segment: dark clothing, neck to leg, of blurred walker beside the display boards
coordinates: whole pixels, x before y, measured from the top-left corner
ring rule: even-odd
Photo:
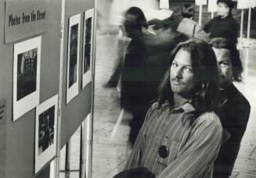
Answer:
[[[131,144],[135,143],[146,111],[150,108],[150,101],[153,100],[153,97],[146,92],[145,41],[147,37],[147,34],[140,31],[132,37],[124,57],[124,68],[121,74],[121,107],[133,114],[129,123]]]

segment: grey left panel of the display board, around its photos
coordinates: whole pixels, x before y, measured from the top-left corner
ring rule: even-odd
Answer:
[[[13,51],[14,44],[41,36],[41,67],[39,102],[43,102],[59,92],[59,37],[61,2],[58,0],[45,1],[46,31],[35,33],[5,44],[5,2],[0,2],[0,81],[1,98],[6,100],[6,117],[2,121],[5,133],[1,133],[1,168],[0,177],[35,177],[34,174],[34,132],[35,108],[13,121]],[[11,1],[13,2],[13,1]],[[14,3],[19,3],[18,1]],[[33,9],[33,7],[32,7]],[[32,10],[31,9],[31,10]],[[18,28],[18,27],[17,27]],[[19,29],[17,29],[19,30]],[[3,141],[5,140],[5,141]],[[2,149],[4,148],[4,150]],[[41,172],[41,174],[44,174]],[[39,173],[37,177],[43,177]]]

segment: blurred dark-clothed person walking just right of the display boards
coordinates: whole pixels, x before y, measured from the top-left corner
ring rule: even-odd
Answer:
[[[135,139],[144,121],[146,111],[150,107],[150,98],[146,94],[146,82],[144,66],[146,62],[146,38],[152,34],[148,33],[146,17],[138,7],[131,7],[125,13],[124,29],[130,41],[124,57],[124,69],[121,73],[121,107],[124,113],[131,114],[129,125],[130,144]]]

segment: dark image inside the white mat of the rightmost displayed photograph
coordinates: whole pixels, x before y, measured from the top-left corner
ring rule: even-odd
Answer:
[[[85,56],[84,74],[90,69],[91,63],[92,17],[85,20]]]

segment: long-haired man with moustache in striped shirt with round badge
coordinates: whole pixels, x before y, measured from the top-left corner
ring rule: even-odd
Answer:
[[[222,144],[217,97],[218,66],[211,47],[199,40],[180,43],[126,170],[115,177],[138,177],[144,167],[142,175],[146,168],[157,178],[211,178]]]

